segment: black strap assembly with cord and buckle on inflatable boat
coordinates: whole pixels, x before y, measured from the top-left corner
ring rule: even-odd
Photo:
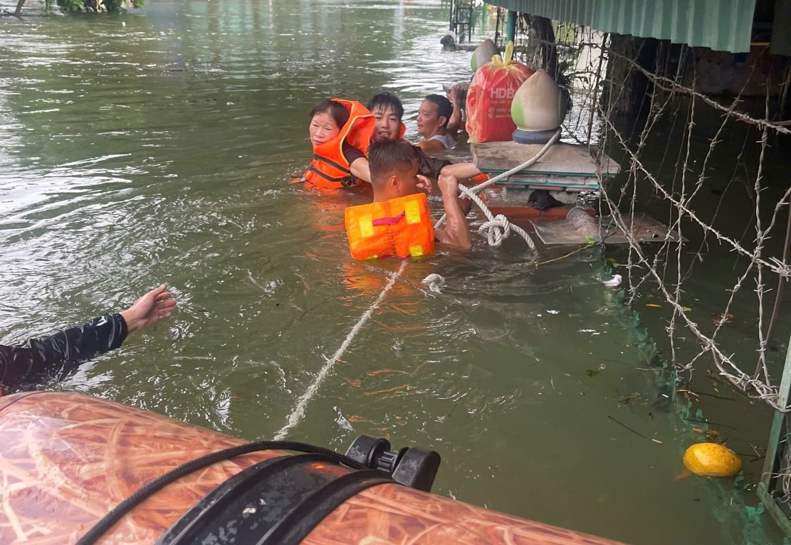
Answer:
[[[260,450],[290,450],[286,455],[244,468],[188,509],[157,545],[226,543],[298,545],[324,517],[347,499],[385,483],[430,491],[440,464],[434,451],[403,448],[361,435],[346,455],[305,443],[260,441],[191,460],[161,475],[119,503],[76,545],[93,545],[121,517],[163,487],[215,462]]]

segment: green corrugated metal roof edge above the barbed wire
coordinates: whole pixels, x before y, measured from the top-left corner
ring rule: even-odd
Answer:
[[[487,0],[601,32],[669,39],[716,51],[750,51],[755,0]]]

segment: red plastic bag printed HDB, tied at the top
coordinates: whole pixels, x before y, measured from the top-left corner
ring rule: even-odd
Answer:
[[[475,72],[467,91],[467,133],[470,142],[508,141],[517,129],[511,119],[511,102],[533,70],[512,61],[513,43],[505,47],[505,61],[494,55]]]

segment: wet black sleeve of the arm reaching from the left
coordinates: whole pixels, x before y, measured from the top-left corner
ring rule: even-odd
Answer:
[[[0,344],[0,387],[17,389],[41,378],[63,375],[85,359],[119,348],[127,338],[120,314],[104,314],[24,344]]]

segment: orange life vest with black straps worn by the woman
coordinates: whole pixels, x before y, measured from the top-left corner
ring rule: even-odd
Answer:
[[[358,186],[360,180],[351,175],[349,163],[343,156],[343,142],[349,142],[367,156],[368,146],[373,139],[375,121],[368,108],[356,100],[332,100],[346,108],[349,112],[349,120],[341,127],[338,136],[313,147],[313,160],[299,181],[310,182],[316,187],[327,189]]]

